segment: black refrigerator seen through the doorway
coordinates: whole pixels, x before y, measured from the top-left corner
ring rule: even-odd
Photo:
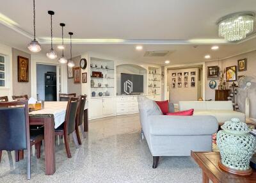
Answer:
[[[44,74],[45,101],[57,101],[56,72]]]

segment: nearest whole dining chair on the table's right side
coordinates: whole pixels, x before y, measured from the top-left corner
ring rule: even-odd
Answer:
[[[76,146],[78,146],[77,136],[76,136],[76,114],[79,106],[79,98],[70,97],[68,99],[67,110],[65,115],[65,122],[63,122],[60,127],[55,129],[55,136],[64,136],[64,143],[67,152],[67,157],[71,158],[68,135],[72,134]]]

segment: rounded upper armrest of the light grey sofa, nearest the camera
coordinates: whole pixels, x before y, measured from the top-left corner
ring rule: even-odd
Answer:
[[[149,129],[157,136],[211,135],[218,121],[214,116],[150,116]]]

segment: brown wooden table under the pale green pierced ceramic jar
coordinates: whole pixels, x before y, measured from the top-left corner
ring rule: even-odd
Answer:
[[[193,152],[191,157],[196,161],[202,169],[203,183],[208,183],[209,179],[213,183],[229,183],[229,182],[256,182],[256,171],[253,170],[252,175],[241,176],[228,173],[219,168],[220,152]]]

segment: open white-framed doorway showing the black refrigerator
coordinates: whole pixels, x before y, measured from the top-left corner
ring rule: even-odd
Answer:
[[[36,64],[36,97],[38,100],[57,101],[59,84],[60,67]]]

